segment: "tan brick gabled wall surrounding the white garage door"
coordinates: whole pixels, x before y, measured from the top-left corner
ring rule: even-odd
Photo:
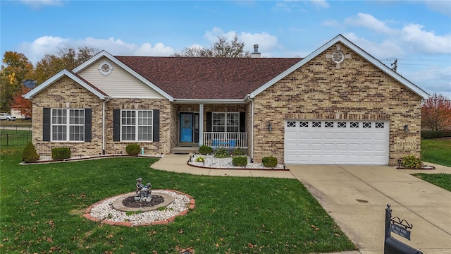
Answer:
[[[390,121],[389,164],[419,156],[421,97],[341,45],[340,68],[326,59],[330,47],[254,98],[254,159],[284,159],[285,119],[371,119]],[[268,123],[273,131],[267,130]],[[404,132],[407,124],[409,131]]]

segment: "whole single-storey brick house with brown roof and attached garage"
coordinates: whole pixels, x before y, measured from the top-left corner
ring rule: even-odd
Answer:
[[[257,54],[258,55],[258,54]],[[241,147],[255,162],[397,164],[419,155],[428,94],[338,35],[304,59],[100,52],[25,96],[39,155]]]

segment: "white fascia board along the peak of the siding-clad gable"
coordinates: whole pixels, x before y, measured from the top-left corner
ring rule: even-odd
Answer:
[[[133,76],[135,76],[135,78],[137,78],[138,80],[140,80],[142,83],[148,85],[149,87],[151,87],[153,90],[156,90],[156,92],[159,92],[159,94],[163,95],[163,97],[165,97],[166,99],[168,99],[170,102],[173,102],[173,97],[171,97],[171,95],[168,95],[166,92],[164,92],[163,90],[161,90],[159,87],[157,87],[156,85],[154,85],[152,82],[150,82],[149,80],[147,80],[146,78],[142,77],[142,75],[138,74],[136,71],[133,71],[130,67],[126,66],[123,62],[119,61],[118,59],[116,59],[116,57],[114,57],[113,55],[109,54],[108,52],[106,52],[105,50],[102,50],[101,52],[99,52],[99,54],[93,56],[91,59],[89,59],[88,61],[85,61],[85,63],[82,63],[80,66],[78,66],[77,68],[73,69],[74,73],[78,73],[79,71],[84,70],[85,68],[87,68],[87,66],[92,65],[92,63],[95,63],[96,61],[98,61],[99,59],[101,59],[102,57],[106,57],[107,59],[109,59],[110,61],[112,61],[113,63],[116,63],[118,66],[120,66],[121,68],[123,68],[125,71],[128,71],[128,73],[132,74]]]

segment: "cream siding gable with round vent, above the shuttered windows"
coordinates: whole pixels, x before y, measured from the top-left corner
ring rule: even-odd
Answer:
[[[99,59],[80,71],[78,75],[106,92],[111,98],[165,99],[159,92],[142,83],[112,61],[109,63],[113,66],[113,71],[109,75],[102,75],[98,68],[103,61],[109,61],[109,59]]]

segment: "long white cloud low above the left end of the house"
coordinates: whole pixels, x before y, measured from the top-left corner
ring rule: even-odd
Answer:
[[[99,50],[106,50],[113,55],[125,56],[169,56],[175,51],[172,47],[165,46],[163,43],[150,44],[144,42],[137,45],[134,43],[124,42],[121,39],[108,40],[87,37],[82,40],[73,40],[70,38],[61,38],[54,36],[39,37],[33,42],[24,42],[20,44],[19,52],[22,52],[32,63],[37,63],[41,60],[44,54],[56,54],[59,49],[70,47],[94,47]]]

